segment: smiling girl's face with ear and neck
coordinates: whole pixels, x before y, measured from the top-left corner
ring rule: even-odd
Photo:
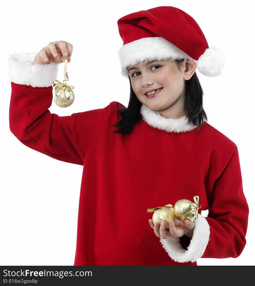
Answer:
[[[141,103],[151,110],[158,110],[166,118],[180,118],[186,115],[185,80],[191,78],[196,69],[196,64],[190,60],[178,69],[174,60],[143,61],[128,67],[132,88]],[[145,93],[158,90],[153,95]]]

